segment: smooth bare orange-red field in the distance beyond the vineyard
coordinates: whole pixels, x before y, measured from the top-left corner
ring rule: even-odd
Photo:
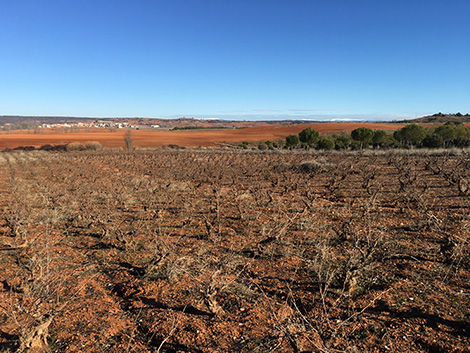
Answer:
[[[214,147],[217,143],[237,143],[242,141],[257,142],[266,140],[278,140],[289,134],[298,134],[307,127],[311,127],[320,133],[337,133],[352,131],[358,127],[366,126],[375,130],[396,130],[403,125],[376,124],[376,123],[321,123],[302,125],[279,125],[265,127],[249,127],[243,129],[228,130],[187,130],[187,131],[150,131],[133,130],[134,145],[142,148],[156,148],[166,145],[178,145],[183,147]],[[40,147],[46,144],[58,145],[69,142],[98,141],[107,147],[125,147],[125,130],[109,132],[107,130],[95,130],[93,132],[58,133],[45,131],[42,133],[1,133],[0,150],[16,148],[19,146]]]

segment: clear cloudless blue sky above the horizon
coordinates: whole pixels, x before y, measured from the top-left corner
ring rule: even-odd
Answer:
[[[0,0],[0,115],[470,112],[469,0]]]

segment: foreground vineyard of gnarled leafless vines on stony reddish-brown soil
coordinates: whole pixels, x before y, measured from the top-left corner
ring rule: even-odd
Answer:
[[[463,151],[0,153],[0,352],[468,352],[469,169]]]

